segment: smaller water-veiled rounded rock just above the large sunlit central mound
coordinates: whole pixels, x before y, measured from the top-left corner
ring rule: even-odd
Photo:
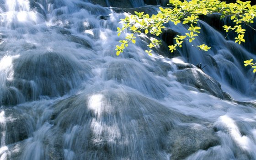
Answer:
[[[167,75],[166,70],[160,70],[160,72],[165,72],[165,75]],[[151,75],[148,74],[148,71],[143,66],[139,66],[132,61],[119,60],[107,64],[107,71],[104,77],[106,80],[115,80],[118,83],[132,87],[156,99],[165,97],[165,86],[152,79]],[[140,77],[139,81],[137,79],[138,77]],[[139,84],[144,85],[139,87]]]

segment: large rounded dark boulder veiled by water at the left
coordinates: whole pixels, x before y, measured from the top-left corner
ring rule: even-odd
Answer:
[[[10,104],[15,104],[19,98],[30,101],[39,96],[63,96],[85,79],[85,75],[80,74],[85,68],[70,55],[55,52],[24,54],[13,60],[13,79],[6,84],[16,92],[10,90],[11,93],[6,95],[9,96],[2,101],[14,101]],[[12,97],[17,100],[11,100]]]

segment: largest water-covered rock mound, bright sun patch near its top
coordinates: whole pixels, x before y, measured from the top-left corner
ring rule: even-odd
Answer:
[[[121,88],[93,92],[81,93],[53,106],[55,126],[64,131],[72,128],[74,137],[69,141],[69,146],[74,151],[75,159],[165,159],[166,155],[158,155],[160,150],[165,149],[164,146],[172,145],[173,151],[178,148],[171,140],[165,145],[166,136],[178,138],[177,135],[184,132],[183,128],[179,129],[176,125],[176,121],[196,121],[196,118],[187,117]],[[174,131],[171,131],[173,128]],[[192,130],[187,129],[186,133],[191,134],[189,132]],[[188,139],[197,141],[201,135],[199,133],[196,139],[192,136]],[[185,139],[185,133],[181,135]],[[180,144],[185,145],[185,142]],[[197,149],[210,145],[206,139],[202,143],[198,144]]]

